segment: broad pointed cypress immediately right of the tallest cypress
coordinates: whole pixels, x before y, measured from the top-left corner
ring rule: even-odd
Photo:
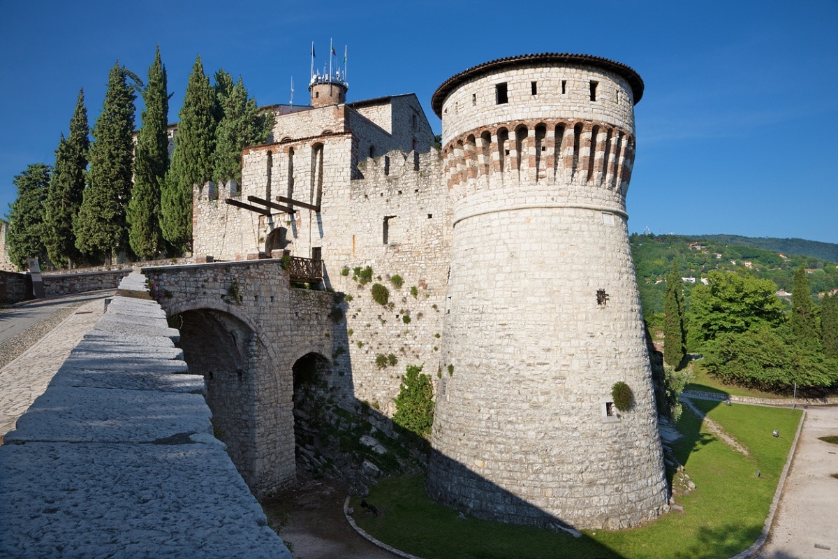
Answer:
[[[192,245],[192,187],[212,179],[215,152],[215,91],[195,60],[174,139],[172,165],[162,187],[160,226],[163,238],[180,250]]]

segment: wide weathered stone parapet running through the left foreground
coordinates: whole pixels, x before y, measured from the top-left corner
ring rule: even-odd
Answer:
[[[133,274],[0,446],[0,556],[290,559]]]

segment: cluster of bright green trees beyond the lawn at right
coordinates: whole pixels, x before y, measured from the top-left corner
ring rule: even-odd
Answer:
[[[711,375],[739,386],[838,386],[838,292],[826,293],[819,307],[803,266],[794,271],[790,308],[769,279],[731,271],[711,271],[706,279],[692,289],[687,308],[673,261],[662,320],[665,365],[683,368],[692,351],[703,354]]]

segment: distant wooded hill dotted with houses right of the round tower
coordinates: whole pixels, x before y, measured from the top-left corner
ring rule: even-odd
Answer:
[[[741,272],[770,279],[778,290],[791,292],[794,270],[809,272],[809,287],[818,295],[838,288],[838,245],[803,239],[768,239],[733,235],[638,235],[629,236],[634,269],[644,316],[664,310],[664,278],[678,265],[685,278],[687,305],[692,288],[713,270]],[[826,258],[825,256],[830,256]]]

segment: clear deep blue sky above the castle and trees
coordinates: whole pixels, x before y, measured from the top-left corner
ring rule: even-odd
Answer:
[[[91,127],[116,60],[160,45],[178,121],[189,72],[241,75],[260,105],[308,102],[312,41],[348,45],[349,101],[433,91],[517,54],[594,54],[637,70],[629,230],[838,242],[838,1],[537,3],[0,0],[0,215],[15,174],[54,162],[81,88]],[[137,103],[137,126],[141,104]]]

